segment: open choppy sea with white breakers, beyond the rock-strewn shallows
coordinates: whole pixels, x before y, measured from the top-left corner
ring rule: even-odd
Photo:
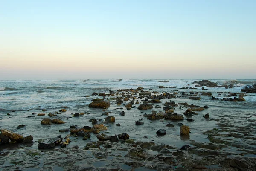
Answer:
[[[90,99],[85,96],[93,92],[109,92],[118,89],[136,89],[144,87],[145,90],[155,89],[160,85],[165,87],[195,87],[191,84],[201,80],[168,80],[169,83],[158,82],[161,80],[1,80],[0,81],[0,112],[58,109],[67,107],[85,107],[90,104]],[[245,85],[256,84],[256,80],[210,80],[219,85],[235,86],[233,89],[209,88],[210,92],[228,91],[240,92]],[[187,86],[187,84],[191,84]],[[168,89],[172,91],[174,89]],[[180,90],[183,91],[183,90]],[[188,90],[184,90],[188,91]],[[196,90],[194,90],[196,91]],[[206,90],[207,91],[207,90]],[[247,101],[255,102],[255,96],[248,97]]]

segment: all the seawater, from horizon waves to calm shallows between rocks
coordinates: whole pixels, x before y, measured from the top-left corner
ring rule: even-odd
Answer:
[[[256,95],[255,93],[246,94],[244,102],[233,101],[221,101],[212,100],[212,97],[201,96],[201,92],[211,92],[212,96],[223,98],[227,97],[229,93],[242,93],[241,88],[246,85],[256,84],[256,80],[210,80],[216,82],[219,85],[233,84],[235,87],[231,89],[225,88],[208,88],[208,90],[198,89],[180,89],[182,87],[195,87],[195,84],[191,84],[193,81],[201,80],[168,80],[168,83],[158,82],[161,80],[125,80],[125,79],[111,79],[111,80],[2,80],[0,81],[0,128],[12,130],[20,133],[23,136],[32,135],[35,143],[29,148],[37,148],[37,142],[39,139],[44,139],[45,142],[49,138],[54,138],[61,134],[65,137],[69,132],[60,133],[59,130],[70,128],[70,125],[78,125],[79,128],[83,126],[92,126],[89,119],[102,119],[98,121],[101,123],[104,121],[105,116],[101,116],[102,109],[88,108],[92,99],[102,98],[99,96],[91,96],[92,93],[109,93],[110,91],[119,89],[136,89],[137,87],[144,87],[144,91],[158,91],[159,94],[163,92],[177,92],[177,98],[173,99],[161,99],[162,103],[154,104],[163,106],[166,101],[175,101],[176,103],[194,104],[201,107],[208,105],[209,109],[202,112],[198,112],[198,115],[192,116],[193,122],[186,120],[182,121],[170,121],[170,120],[148,120],[142,115],[144,113],[151,114],[152,110],[157,112],[163,112],[163,108],[153,108],[151,110],[137,110],[137,107],[142,103],[142,99],[138,99],[140,104],[134,104],[135,108],[126,110],[123,106],[129,101],[124,101],[121,106],[117,106],[111,97],[105,97],[106,100],[110,100],[110,107],[108,112],[111,112],[109,116],[116,118],[115,123],[106,124],[108,130],[104,133],[107,135],[115,135],[119,133],[128,133],[130,139],[135,141],[154,141],[156,144],[164,143],[167,145],[180,148],[182,145],[190,144],[193,142],[206,142],[209,143],[207,135],[204,134],[207,130],[214,128],[219,129],[218,124],[230,125],[230,130],[225,130],[224,134],[236,134],[241,129],[248,130],[241,138],[235,138],[234,145],[230,145],[227,151],[240,153],[242,149],[250,149],[255,151],[255,145],[250,142],[250,139],[256,137]],[[190,84],[190,85],[188,85]],[[159,89],[159,86],[164,87],[176,87]],[[178,91],[177,91],[178,90]],[[200,101],[189,99],[189,92],[199,92],[201,97]],[[182,95],[185,93],[186,95]],[[89,96],[89,97],[86,97]],[[119,94],[118,96],[121,96]],[[231,96],[233,97],[233,96]],[[67,112],[58,114],[51,119],[57,118],[65,121],[65,124],[61,125],[41,125],[40,122],[44,118],[48,118],[48,113],[54,113],[59,111],[63,107],[67,106]],[[42,112],[43,109],[47,111]],[[183,105],[175,107],[175,113],[183,114],[186,108]],[[125,111],[125,116],[119,115],[121,111]],[[32,115],[35,113],[45,113],[45,116]],[[71,113],[83,112],[87,113],[80,117],[71,117]],[[7,115],[10,113],[10,115]],[[203,116],[209,113],[210,118],[205,119]],[[28,116],[32,116],[28,118]],[[145,122],[144,125],[137,126],[135,121],[142,119]],[[175,127],[166,127],[165,125],[171,122]],[[188,125],[191,128],[189,137],[181,137],[179,134],[180,128],[177,124],[181,122]],[[120,123],[118,127],[115,124]],[[18,125],[26,125],[24,128],[17,128]],[[156,135],[158,129],[165,129],[167,134],[159,137]],[[240,131],[242,132],[242,130]],[[249,132],[249,133],[248,133]],[[145,138],[147,136],[148,138]],[[219,137],[221,138],[221,137]],[[82,140],[82,137],[71,137],[71,146],[79,145],[79,148],[83,148],[87,142],[97,141],[96,135],[92,134],[92,137],[86,141]],[[240,145],[240,148],[237,146]],[[0,149],[6,148],[1,145]],[[250,155],[254,155],[250,152]]]

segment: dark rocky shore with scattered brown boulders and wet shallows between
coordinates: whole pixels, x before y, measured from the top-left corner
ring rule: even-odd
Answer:
[[[215,113],[209,105],[246,105],[256,85],[230,93],[231,84],[202,80],[192,82],[194,88],[164,86],[168,82],[148,90],[94,92],[86,96],[85,112],[28,111],[26,118],[40,119],[36,125],[51,138],[19,133],[29,125],[1,128],[0,170],[256,171],[256,113]],[[220,91],[214,94],[212,87]],[[211,122],[214,128],[208,129]],[[60,135],[52,137],[56,132]]]

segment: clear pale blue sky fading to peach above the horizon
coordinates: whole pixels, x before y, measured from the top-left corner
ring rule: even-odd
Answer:
[[[256,79],[255,0],[0,0],[0,79]]]

